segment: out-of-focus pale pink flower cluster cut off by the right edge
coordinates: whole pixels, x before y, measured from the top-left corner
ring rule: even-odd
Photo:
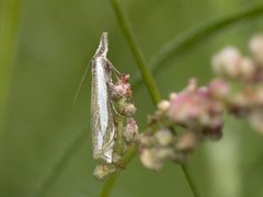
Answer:
[[[228,112],[248,118],[263,134],[263,36],[254,36],[249,48],[251,57],[235,47],[222,49],[213,58],[213,68],[230,89],[225,97]]]

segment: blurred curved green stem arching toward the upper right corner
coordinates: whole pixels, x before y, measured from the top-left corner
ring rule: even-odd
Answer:
[[[262,2],[236,9],[226,15],[198,24],[161,47],[157,55],[155,55],[150,60],[150,69],[152,73],[157,74],[161,68],[163,69],[163,67],[167,66],[168,61],[176,58],[185,51],[188,51],[195,45],[202,43],[204,39],[207,39],[208,36],[211,36],[230,25],[237,24],[238,22],[260,15],[263,15]],[[134,79],[134,88],[141,84],[142,80],[139,74],[137,74]]]

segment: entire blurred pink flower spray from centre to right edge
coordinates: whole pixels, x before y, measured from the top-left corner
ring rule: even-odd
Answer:
[[[222,137],[222,115],[244,117],[263,134],[263,36],[254,36],[251,57],[226,47],[213,57],[217,77],[198,88],[195,79],[159,103],[138,140],[142,164],[160,170],[164,159],[185,162],[196,144]]]

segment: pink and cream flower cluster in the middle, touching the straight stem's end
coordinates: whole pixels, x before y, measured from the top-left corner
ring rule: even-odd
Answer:
[[[198,88],[192,79],[182,92],[159,103],[149,118],[156,127],[139,139],[145,166],[159,170],[167,158],[184,162],[199,141],[221,138],[224,105],[214,99],[213,85]],[[183,131],[176,134],[180,129]]]

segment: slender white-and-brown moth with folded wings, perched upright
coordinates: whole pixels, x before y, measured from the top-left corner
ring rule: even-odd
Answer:
[[[111,106],[110,85],[113,66],[106,58],[107,45],[107,33],[104,32],[91,63],[91,118],[93,158],[112,163],[115,127]]]

